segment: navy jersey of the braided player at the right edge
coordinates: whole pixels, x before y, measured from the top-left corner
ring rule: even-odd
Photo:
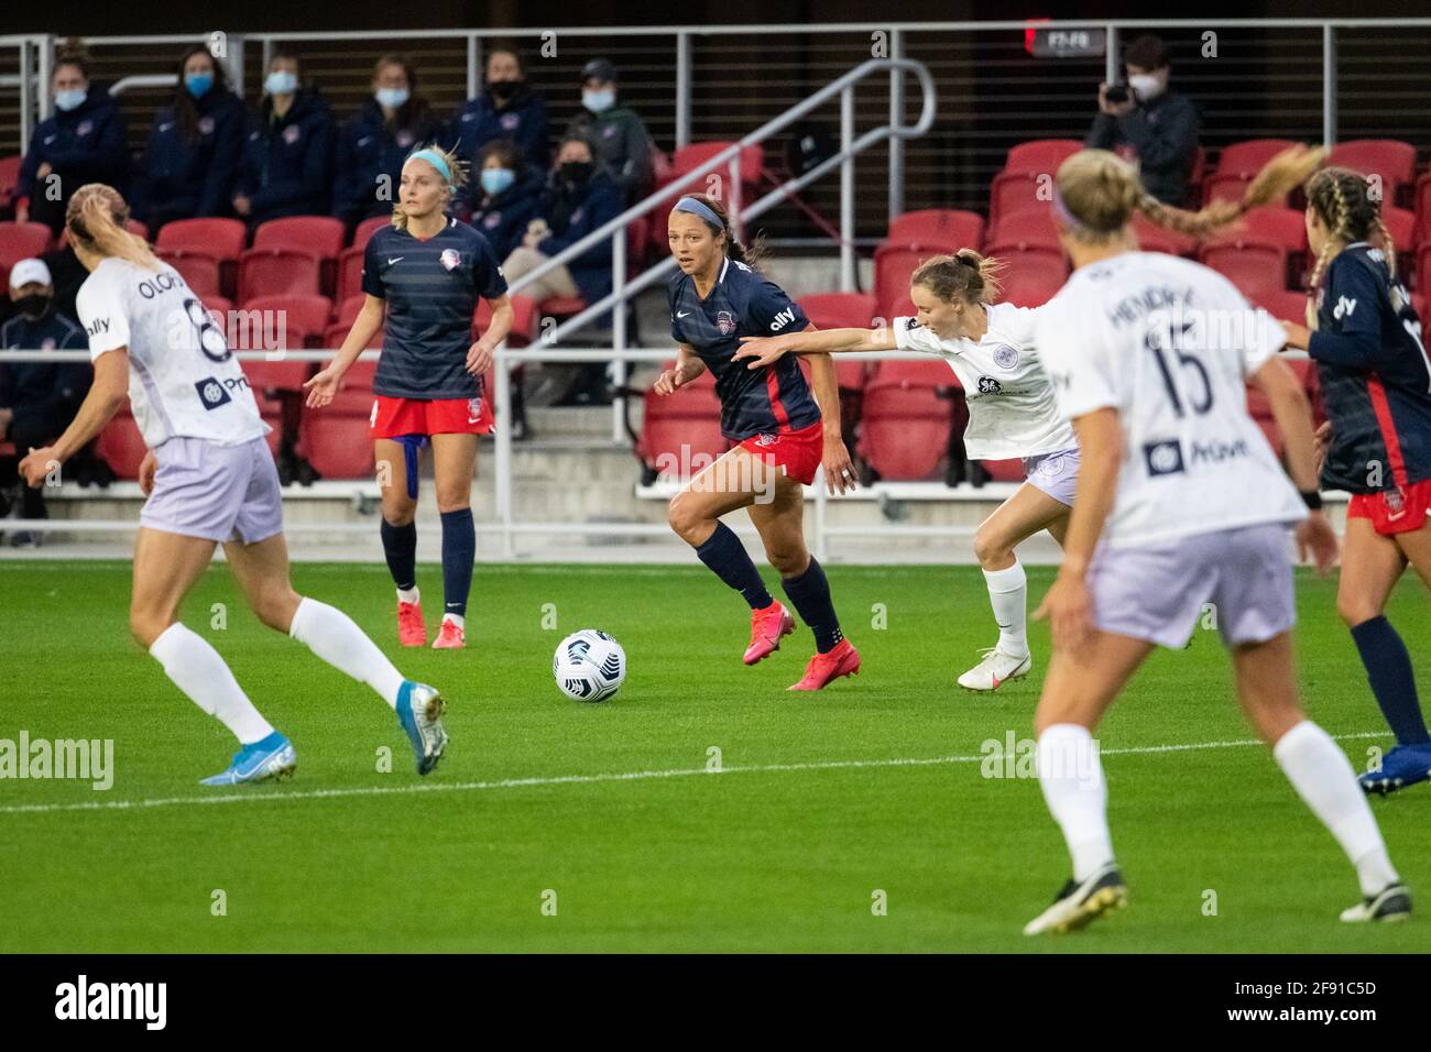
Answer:
[[[1348,245],[1317,292],[1317,362],[1332,441],[1322,487],[1354,494],[1431,478],[1431,361],[1385,256]]]

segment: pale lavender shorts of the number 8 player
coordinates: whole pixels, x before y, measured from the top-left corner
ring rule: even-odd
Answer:
[[[218,445],[170,438],[155,449],[155,488],[142,525],[209,541],[255,544],[283,532],[278,468],[268,441]]]

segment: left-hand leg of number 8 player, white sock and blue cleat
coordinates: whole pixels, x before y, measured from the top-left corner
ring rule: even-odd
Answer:
[[[260,781],[290,774],[293,747],[253,707],[207,640],[177,620],[179,604],[213,557],[215,542],[140,527],[129,630],[190,701],[239,740],[233,763],[206,784]]]

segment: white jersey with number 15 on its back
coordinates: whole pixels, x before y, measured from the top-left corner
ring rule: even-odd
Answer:
[[[1118,409],[1110,545],[1307,515],[1246,409],[1245,378],[1282,346],[1282,328],[1226,278],[1161,252],[1125,252],[1075,271],[1039,311],[1037,329],[1068,418]]]

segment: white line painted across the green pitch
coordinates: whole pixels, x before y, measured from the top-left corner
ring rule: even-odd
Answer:
[[[1369,730],[1357,734],[1334,734],[1347,741],[1352,739],[1388,737],[1388,731]],[[1002,744],[1002,741],[1000,741]],[[1193,741],[1176,746],[1129,746],[1126,749],[1100,749],[1099,756],[1148,756],[1155,753],[1189,753],[1206,749],[1246,749],[1261,746],[1256,739],[1236,741]],[[610,774],[557,774],[527,779],[498,779],[495,781],[414,781],[404,786],[359,786],[352,789],[313,789],[275,793],[216,793],[212,796],[169,796],[147,800],[96,800],[93,803],[33,803],[0,806],[0,814],[49,814],[52,812],[113,812],[143,810],[147,807],[187,807],[218,803],[290,803],[293,800],[332,800],[353,796],[399,796],[408,793],[475,793],[494,789],[528,789],[542,786],[590,786],[600,781],[647,781],[650,779],[680,779],[688,776],[714,774],[770,774],[780,771],[811,770],[854,770],[866,767],[937,767],[954,763],[983,763],[987,756],[930,756],[889,760],[811,760],[809,763],[767,763],[748,767],[723,767],[718,771],[705,767],[677,767],[673,770],[638,770]]]

